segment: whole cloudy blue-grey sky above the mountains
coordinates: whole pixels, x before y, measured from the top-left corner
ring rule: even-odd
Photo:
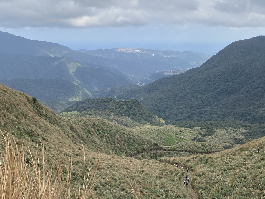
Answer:
[[[264,0],[0,0],[0,30],[78,49],[215,55],[265,35]]]

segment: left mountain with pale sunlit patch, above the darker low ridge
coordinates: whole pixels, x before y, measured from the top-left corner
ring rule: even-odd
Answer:
[[[92,92],[93,90],[130,84],[121,72],[68,57],[40,57],[0,52],[0,78],[66,79]]]

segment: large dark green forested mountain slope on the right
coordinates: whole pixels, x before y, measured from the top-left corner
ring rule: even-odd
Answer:
[[[238,119],[265,121],[265,36],[236,41],[201,67],[157,80],[135,91],[151,112],[167,121]],[[117,98],[132,97],[130,92]]]

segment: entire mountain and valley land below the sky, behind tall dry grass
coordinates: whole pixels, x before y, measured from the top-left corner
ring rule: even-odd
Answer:
[[[59,171],[68,193],[83,190],[94,175],[95,184],[88,183],[94,199],[265,197],[265,36],[233,42],[212,57],[73,51],[6,32],[0,40],[1,164],[21,147],[25,173],[37,175],[41,162],[39,179]],[[168,70],[180,73],[162,77]],[[135,85],[147,74],[157,79]]]

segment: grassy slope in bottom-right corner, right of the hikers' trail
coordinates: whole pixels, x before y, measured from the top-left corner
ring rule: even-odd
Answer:
[[[264,198],[265,137],[216,154],[164,158],[189,167],[199,198]]]

